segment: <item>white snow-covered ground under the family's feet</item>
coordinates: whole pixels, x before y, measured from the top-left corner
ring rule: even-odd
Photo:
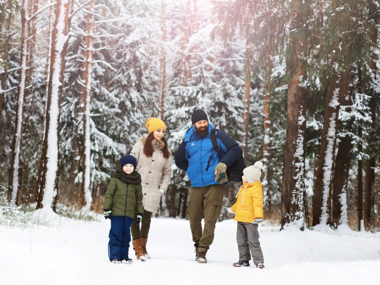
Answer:
[[[348,228],[260,229],[266,268],[235,268],[236,222],[217,223],[207,264],[194,261],[187,220],[152,219],[150,260],[111,264],[109,220],[59,218],[51,226],[0,226],[0,284],[379,284],[380,233]]]

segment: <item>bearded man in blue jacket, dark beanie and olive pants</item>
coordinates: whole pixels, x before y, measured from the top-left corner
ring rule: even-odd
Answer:
[[[221,130],[215,132],[220,152],[214,149],[210,136],[214,127],[208,123],[204,111],[197,109],[193,112],[192,124],[174,161],[179,169],[187,171],[191,181],[187,215],[195,242],[195,259],[198,263],[206,263],[206,252],[214,240],[215,224],[222,211],[228,180],[226,169],[239,157],[241,149]]]

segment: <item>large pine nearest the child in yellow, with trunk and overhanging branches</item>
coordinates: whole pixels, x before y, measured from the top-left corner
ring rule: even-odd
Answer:
[[[219,3],[219,25],[215,32],[224,41],[239,28],[245,38],[254,44],[246,63],[258,70],[271,64],[269,53],[284,55],[287,63],[285,80],[288,85],[287,135],[285,141],[282,177],[282,228],[296,224],[301,230],[305,224],[305,131],[306,131],[306,54],[311,27],[313,5],[310,1],[236,1]],[[288,13],[291,11],[291,13]],[[310,21],[309,21],[310,20]],[[249,33],[252,27],[252,33]],[[271,35],[275,37],[271,38]],[[286,48],[284,48],[286,44]],[[256,72],[257,73],[257,72]],[[255,73],[253,73],[255,75]],[[294,143],[296,142],[296,143]]]

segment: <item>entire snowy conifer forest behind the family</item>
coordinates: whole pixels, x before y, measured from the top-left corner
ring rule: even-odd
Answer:
[[[263,161],[265,219],[378,231],[378,19],[366,0],[0,0],[2,212],[101,211],[145,119],[174,156],[199,108]],[[157,216],[185,218],[172,170]]]

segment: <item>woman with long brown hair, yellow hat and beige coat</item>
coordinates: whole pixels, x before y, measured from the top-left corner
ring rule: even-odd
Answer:
[[[135,213],[131,225],[132,244],[138,260],[150,258],[146,243],[152,214],[157,213],[161,195],[166,192],[171,177],[171,152],[164,138],[166,125],[158,118],[145,121],[148,134],[133,146],[131,155],[136,157],[136,171],[141,175],[144,213]],[[141,229],[137,215],[142,214]]]

